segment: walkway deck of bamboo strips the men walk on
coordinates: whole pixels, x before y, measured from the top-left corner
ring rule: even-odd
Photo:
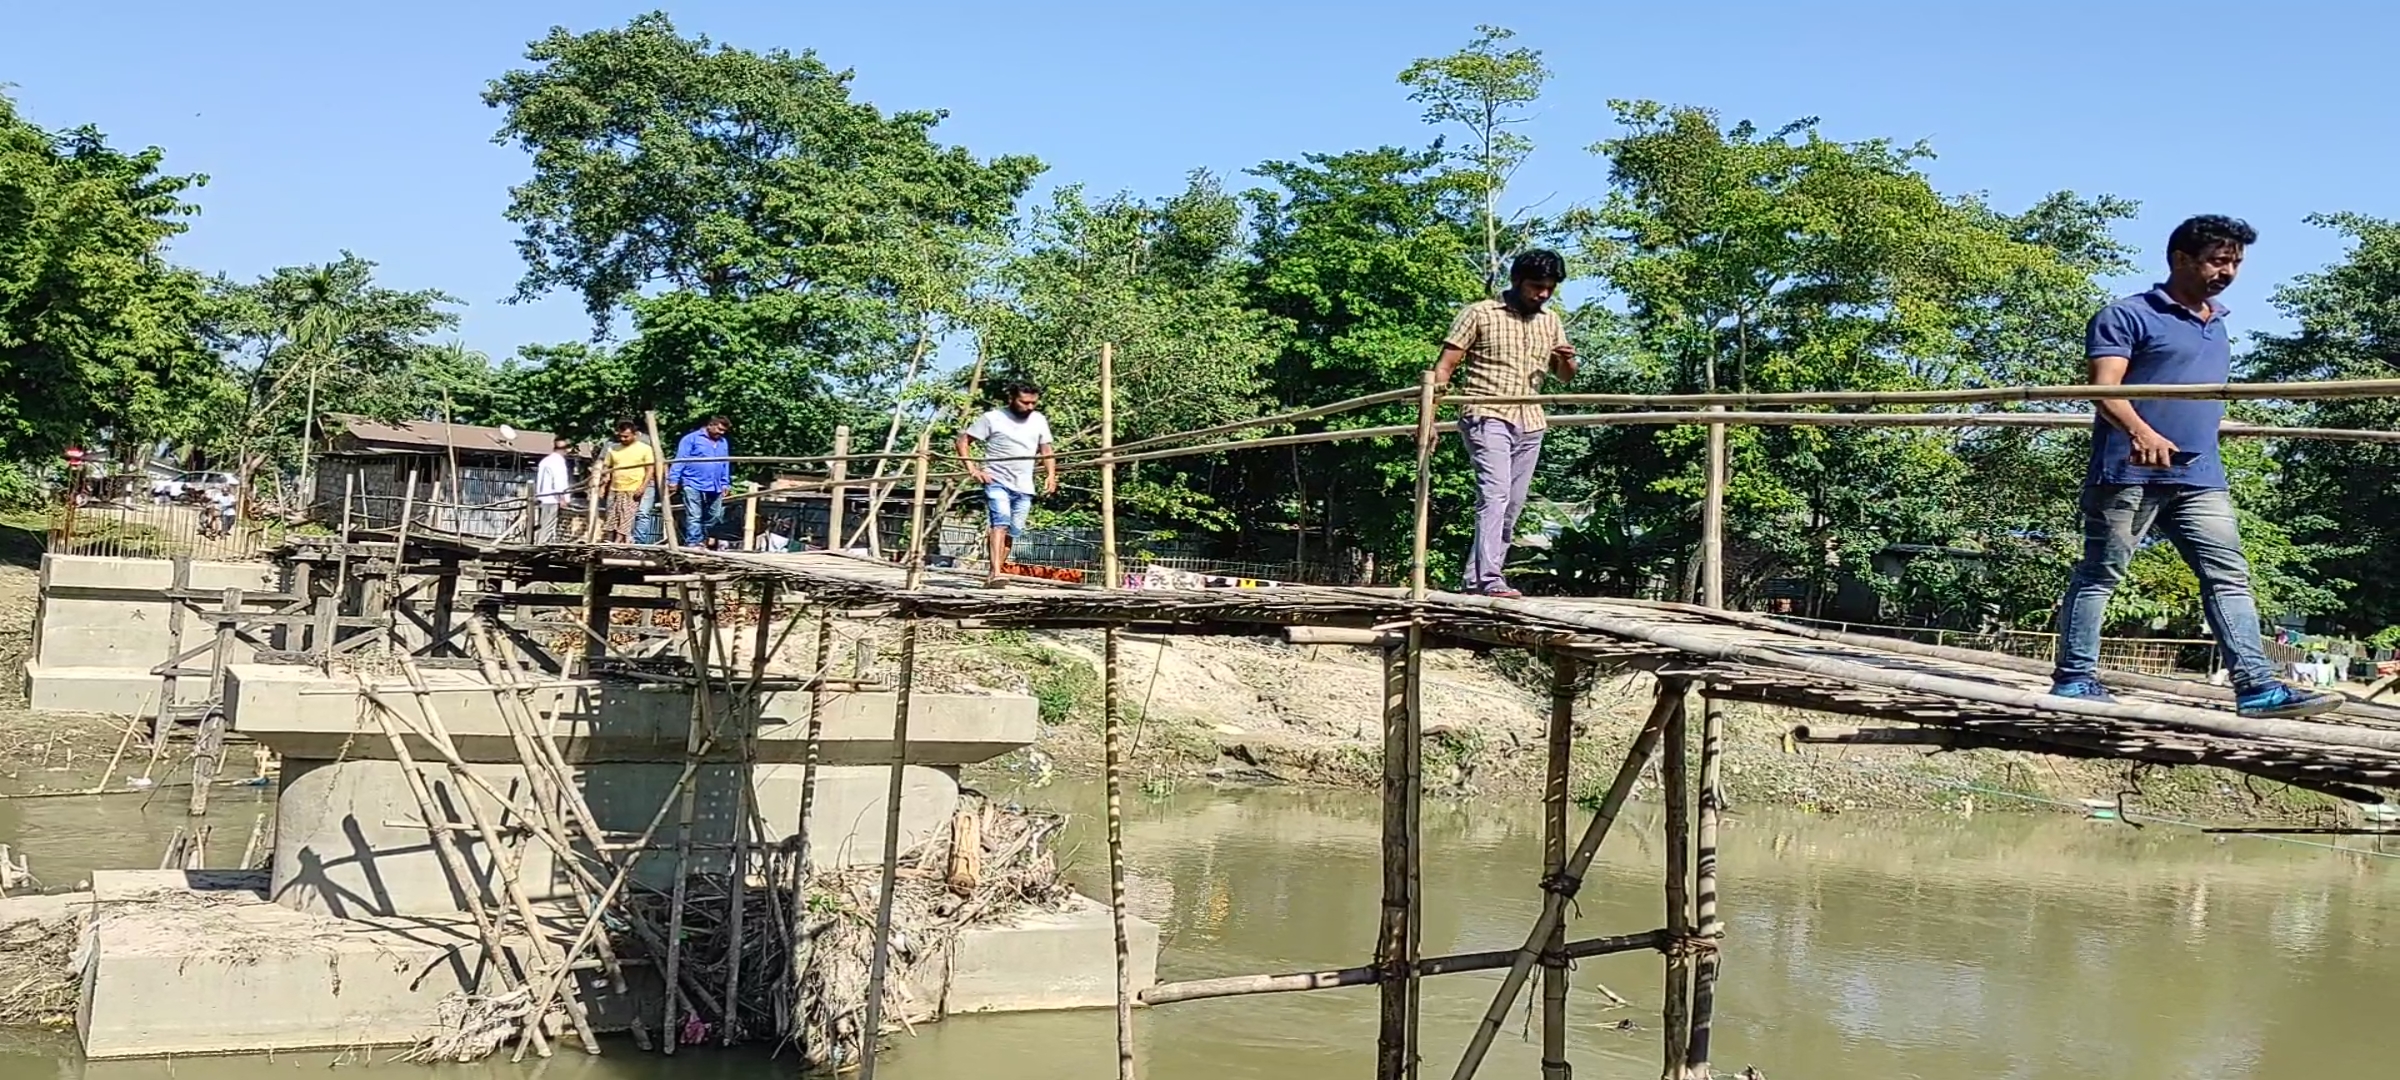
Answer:
[[[1397,588],[1106,590],[929,569],[907,571],[833,552],[701,552],[634,545],[518,550],[552,564],[600,562],[629,574],[708,574],[778,581],[809,602],[888,607],[977,626],[1130,626],[1174,634],[1277,634],[1282,626],[1373,629],[1423,619],[1452,643],[1546,646],[1622,667],[1697,679],[1733,701],[1925,725],[1951,746],[1999,746],[2086,758],[2222,766],[2345,799],[2400,787],[2400,710],[2350,703],[2314,720],[2249,720],[2230,691],[2182,679],[2112,674],[2114,703],[2054,698],[2038,660],[1826,634],[1762,614],[1613,598],[1433,593],[1411,605]]]

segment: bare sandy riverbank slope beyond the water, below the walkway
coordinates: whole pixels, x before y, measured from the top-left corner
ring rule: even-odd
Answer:
[[[1102,761],[1099,631],[960,631],[919,646],[926,689],[1006,689],[1042,701],[1042,737],[1013,770],[1094,775]],[[1121,636],[1128,787],[1164,797],[1188,785],[1270,782],[1373,787],[1382,766],[1380,660],[1351,646],[1272,638]],[[1445,799],[1531,799],[1541,790],[1548,670],[1526,653],[1428,653],[1426,790]],[[1598,792],[1649,710],[1649,677],[1601,672],[1577,708],[1572,785]],[[1862,809],[2062,809],[2086,799],[2203,821],[2333,823],[2347,804],[2215,768],[2141,768],[2014,751],[1800,746],[1814,713],[1726,710],[1730,802],[1817,814]],[[1637,797],[1649,787],[1644,782]]]

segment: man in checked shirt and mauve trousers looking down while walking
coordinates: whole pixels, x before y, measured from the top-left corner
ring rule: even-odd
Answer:
[[[1541,377],[1574,379],[1574,346],[1558,312],[1543,305],[1567,278],[1567,259],[1531,250],[1510,264],[1510,288],[1498,300],[1466,305],[1442,338],[1442,358],[1433,362],[1433,384],[1466,360],[1466,394],[1478,398],[1541,394]],[[1459,432],[1466,456],[1476,463],[1476,542],[1466,550],[1466,590],[1481,595],[1522,595],[1507,588],[1500,569],[1517,538],[1534,466],[1541,463],[1541,434],[1548,420],[1541,406],[1466,406]]]

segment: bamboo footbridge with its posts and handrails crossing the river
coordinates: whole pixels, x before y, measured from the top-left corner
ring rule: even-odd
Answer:
[[[2232,694],[2203,682],[2107,672],[2117,701],[2057,698],[2047,694],[2050,665],[1961,648],[1920,646],[1894,638],[1834,634],[1786,624],[1764,614],[1723,610],[1723,492],[1728,425],[1841,425],[1872,427],[2083,427],[2088,413],[2057,410],[1958,410],[1925,413],[1927,406],[2045,403],[2090,398],[2366,398],[2400,396],[2393,382],[2318,382],[2318,384],[2222,384],[2222,386],[2014,386],[1975,391],[1915,394],[1692,394],[1692,396],[1529,396],[1529,398],[1438,398],[1430,377],[1406,391],[1373,394],[1334,406],[1284,413],[1248,422],[1219,425],[1176,437],[1114,444],[1114,350],[1102,350],[1102,422],[1094,449],[1061,451],[1063,468],[1099,473],[1102,578],[1092,586],[1006,578],[989,583],[984,574],[960,574],[931,566],[926,518],[938,523],[943,509],[962,487],[955,466],[943,466],[931,451],[931,425],[917,437],[914,451],[850,454],[847,430],[835,434],[835,454],[809,458],[823,468],[830,523],[828,550],[806,552],[720,552],[667,545],[598,542],[598,521],[574,542],[499,542],[478,545],[480,559],[511,562],[550,581],[583,578],[583,619],[588,658],[598,660],[607,641],[607,607],[617,586],[658,586],[677,590],[686,612],[686,638],[703,653],[691,665],[701,684],[720,684],[727,696],[742,682],[734,658],[706,660],[713,634],[694,631],[694,622],[713,619],[720,588],[754,590],[758,602],[758,653],[749,679],[758,684],[768,653],[768,622],[778,610],[799,605],[818,619],[818,674],[811,686],[826,689],[823,655],[828,619],[835,612],[893,619],[900,626],[898,710],[890,758],[890,797],[881,864],[881,902],[876,919],[876,965],[864,1006],[864,1025],[874,1039],[883,1030],[886,962],[890,950],[890,895],[900,852],[900,770],[907,758],[910,679],[917,655],[917,626],[938,619],[967,629],[1099,629],[1104,631],[1104,739],[1109,780],[1109,907],[1118,941],[1118,1078],[1138,1073],[1135,1006],[1169,1006],[1222,996],[1318,991],[1339,986],[1375,986],[1380,1027],[1375,1044],[1378,1080],[1414,1080],[1421,1075],[1423,1046],[1418,1027],[1418,982],[1426,977],[1500,970],[1490,1008],[1474,1027],[1452,1068],[1454,1080],[1476,1075],[1519,998],[1536,982],[1541,994],[1543,1080],[1567,1080],[1567,986],[1577,958],[1654,950],[1666,965],[1661,991],[1661,1075],[1668,1080],[1711,1075],[1711,1032],[1716,984],[1726,948],[1726,922],[1718,905],[1726,881],[1718,864],[1718,823],[1723,811],[1723,708],[1728,701],[1788,706],[1841,718],[1872,720],[1867,727],[1798,730],[1810,742],[1874,742],[1925,746],[1992,746],[2076,758],[2117,758],[2160,766],[2215,766],[2254,778],[2268,778],[2328,792],[2342,799],[2381,804],[2388,790],[2400,790],[2400,708],[2350,701],[2340,710],[2311,720],[2242,718]],[[1411,401],[1414,398],[1414,401]],[[1553,415],[1553,425],[1694,425],[1709,432],[1706,497],[1702,509],[1699,583],[1702,600],[1656,602],[1622,598],[1483,598],[1457,595],[1428,583],[1430,533],[1430,458],[1438,434],[1438,410],[1445,403],[1531,401],[1546,406],[1596,406],[1620,413]],[[1294,430],[1322,422],[1337,413],[1414,403],[1414,422],[1380,427]],[[1387,408],[1387,413],[1399,410]],[[1742,408],[1742,413],[1728,413]],[[1841,413],[1826,408],[1884,408],[1886,413]],[[1891,408],[1920,408],[1889,413]],[[1625,413],[1639,410],[1639,413]],[[653,422],[655,432],[655,422]],[[1284,432],[1284,434],[1258,434]],[[2227,425],[2230,437],[2266,439],[2357,439],[2400,442],[2400,432],[2292,430]],[[1202,442],[1217,437],[1219,442]],[[1234,439],[1238,437],[1238,439]],[[1226,442],[1229,439],[1229,442]],[[1123,588],[1116,552],[1116,468],[1133,461],[1193,454],[1236,454],[1272,446],[1414,439],[1416,444],[1416,533],[1406,586],[1277,586],[1277,588]],[[655,434],[653,434],[655,442]],[[778,461],[792,458],[734,458]],[[852,475],[871,463],[874,475]],[[595,494],[600,478],[595,482]],[[938,499],[929,492],[941,485]],[[410,482],[410,490],[415,485]],[[842,506],[850,490],[874,492],[876,504],[898,487],[914,490],[907,550],[893,559],[850,552]],[[938,509],[931,509],[938,506]],[[667,509],[672,538],[672,506]],[[598,516],[595,516],[598,518]],[[869,511],[874,518],[874,509]],[[530,521],[530,514],[528,514]],[[408,547],[408,518],[401,523],[401,547]],[[427,538],[420,533],[425,540]],[[701,593],[703,602],[694,602]],[[785,607],[778,607],[782,602]],[[799,614],[792,614],[794,624]],[[1118,636],[1142,634],[1219,634],[1219,636],[1310,636],[1310,641],[1346,641],[1378,648],[1382,655],[1382,905],[1373,936],[1373,955],[1361,967],[1322,972],[1267,972],[1231,979],[1171,982],[1130,986],[1126,965],[1126,862],[1123,862],[1123,746],[1118,701]],[[1531,869],[1529,886],[1541,893],[1541,914],[1522,941],[1495,943],[1488,953],[1426,958],[1418,950],[1423,878],[1418,874],[1423,806],[1423,732],[1421,703],[1423,658],[1433,648],[1526,648],[1548,660],[1553,672],[1548,718],[1546,835],[1543,864]],[[1570,830],[1567,766],[1577,739],[1574,713],[1596,670],[1639,670],[1656,679],[1656,691],[1639,732],[1622,749],[1622,763],[1610,775],[1584,828]],[[706,698],[706,694],[701,696]],[[734,698],[739,701],[739,698]],[[811,710],[814,715],[814,710]],[[1697,720],[1697,722],[1694,722]],[[698,720],[696,720],[698,722]],[[1694,732],[1697,730],[1697,732]],[[710,732],[715,727],[710,725]],[[713,734],[710,734],[713,739]],[[809,739],[816,739],[811,722]],[[698,744],[698,739],[696,739]],[[703,746],[706,749],[706,746]],[[814,751],[811,751],[814,758]],[[1618,823],[1637,780],[1656,768],[1658,797],[1666,809],[1661,924],[1620,936],[1567,938],[1567,914],[1584,876]],[[689,773],[689,768],[686,768]],[[809,799],[804,780],[802,804]],[[665,806],[660,816],[665,816]],[[806,821],[806,811],[802,814]],[[806,845],[806,835],[799,838]],[[730,1001],[730,994],[727,994]],[[876,1054],[859,1061],[859,1073],[874,1078]]]

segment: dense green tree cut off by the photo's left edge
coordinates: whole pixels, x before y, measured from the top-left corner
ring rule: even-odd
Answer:
[[[0,458],[182,439],[223,391],[202,278],[163,254],[206,178],[163,158],[94,127],[48,132],[0,96]]]

